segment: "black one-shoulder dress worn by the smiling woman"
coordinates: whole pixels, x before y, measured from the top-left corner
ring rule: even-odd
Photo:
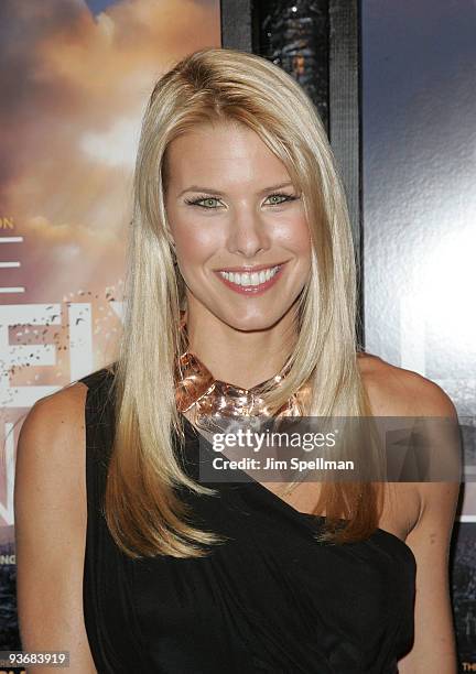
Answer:
[[[197,524],[230,539],[208,557],[131,559],[101,512],[113,435],[112,374],[80,380],[86,401],[84,612],[99,674],[394,674],[411,648],[415,559],[396,535],[329,545],[323,518],[259,482],[187,491]],[[197,478],[185,420],[182,465]],[[184,490],[185,491],[185,490]],[[184,493],[185,497],[185,493]]]

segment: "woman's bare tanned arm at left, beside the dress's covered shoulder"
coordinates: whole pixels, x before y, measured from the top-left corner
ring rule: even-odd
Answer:
[[[17,601],[23,651],[69,651],[69,674],[96,674],[83,612],[87,388],[37,401],[17,447]],[[57,667],[26,670],[57,674]]]

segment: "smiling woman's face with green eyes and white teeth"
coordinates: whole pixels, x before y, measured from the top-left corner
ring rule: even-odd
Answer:
[[[165,207],[190,315],[239,330],[285,316],[311,270],[303,203],[284,164],[244,126],[172,141]]]

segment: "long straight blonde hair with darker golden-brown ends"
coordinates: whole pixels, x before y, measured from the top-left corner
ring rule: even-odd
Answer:
[[[169,144],[197,123],[219,121],[246,124],[284,163],[302,191],[312,237],[312,273],[300,296],[289,374],[266,393],[266,403],[278,410],[307,382],[310,416],[370,415],[357,366],[357,275],[345,193],[318,115],[293,78],[270,62],[235,50],[195,52],[156,83],[134,172],[105,498],[111,535],[131,557],[198,557],[224,542],[187,521],[190,511],[174,491],[182,486],[217,493],[181,469],[174,447],[173,433],[183,438],[174,367],[185,287],[173,263],[163,184]],[[322,540],[361,540],[378,524],[378,489],[370,482],[323,483],[316,512],[323,507]],[[336,530],[342,519],[347,525]]]

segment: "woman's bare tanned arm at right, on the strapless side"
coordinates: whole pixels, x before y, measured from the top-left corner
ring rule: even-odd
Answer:
[[[419,411],[415,414],[457,421],[453,403],[440,387],[420,378],[416,385]],[[448,450],[453,452],[454,447]],[[415,486],[421,498],[420,518],[407,537],[416,558],[415,632],[413,648],[399,662],[399,672],[456,674],[448,554],[459,483],[420,482]]]

